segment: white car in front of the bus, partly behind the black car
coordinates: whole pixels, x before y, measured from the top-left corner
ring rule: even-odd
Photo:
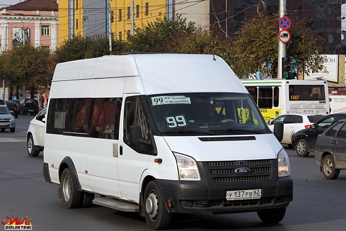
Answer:
[[[294,133],[311,126],[311,124],[322,118],[323,115],[307,114],[307,113],[292,113],[284,114],[276,117],[271,122],[268,122],[268,126],[272,132],[274,132],[274,124],[277,122],[283,122],[283,139],[280,143],[287,144],[292,148],[292,136]]]

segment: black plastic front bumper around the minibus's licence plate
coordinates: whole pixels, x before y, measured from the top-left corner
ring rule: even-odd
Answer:
[[[272,174],[276,176],[271,176],[267,180],[216,182],[208,171],[203,171],[207,169],[206,166],[203,167],[199,165],[201,181],[157,179],[170,212],[255,212],[287,207],[293,199],[292,177],[277,177],[277,171],[273,171]],[[277,169],[277,165],[273,166],[275,167]],[[227,201],[227,191],[247,189],[262,189],[261,198]]]

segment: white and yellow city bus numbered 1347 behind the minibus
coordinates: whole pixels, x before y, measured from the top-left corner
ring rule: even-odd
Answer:
[[[242,83],[266,122],[287,113],[330,113],[327,81],[264,79]]]

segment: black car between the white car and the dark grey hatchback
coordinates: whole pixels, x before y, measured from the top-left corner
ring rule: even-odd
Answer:
[[[340,119],[346,119],[346,113],[326,115],[312,124],[311,127],[296,132],[292,137],[292,146],[298,156],[307,157],[310,152],[315,152],[317,136]]]

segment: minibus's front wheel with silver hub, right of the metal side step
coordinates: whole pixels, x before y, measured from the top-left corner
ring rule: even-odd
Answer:
[[[171,213],[167,211],[157,181],[150,181],[144,193],[144,214],[149,228],[166,229],[171,222]]]

